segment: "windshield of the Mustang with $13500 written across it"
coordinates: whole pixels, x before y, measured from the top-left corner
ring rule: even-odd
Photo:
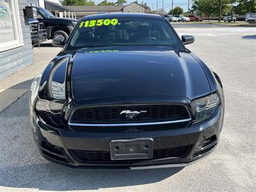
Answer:
[[[182,49],[166,20],[122,18],[81,20],[66,50],[120,45],[172,46]]]

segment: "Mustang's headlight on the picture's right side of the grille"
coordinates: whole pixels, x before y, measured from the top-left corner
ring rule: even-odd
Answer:
[[[207,120],[212,116],[215,109],[220,105],[220,98],[217,93],[193,100],[192,106],[195,109],[195,123]]]

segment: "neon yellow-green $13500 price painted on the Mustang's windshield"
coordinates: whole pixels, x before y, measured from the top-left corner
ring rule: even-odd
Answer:
[[[116,26],[118,19],[98,19],[98,20],[86,20],[79,24],[79,28],[93,28],[94,26]]]

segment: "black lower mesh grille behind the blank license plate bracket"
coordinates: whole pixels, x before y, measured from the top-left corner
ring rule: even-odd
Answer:
[[[188,154],[190,148],[191,145],[154,149],[152,159],[163,159],[168,157],[181,158]],[[112,161],[110,157],[110,152],[107,151],[70,150],[70,154],[72,154],[74,159],[82,163],[132,163],[138,161],[148,161],[148,159]]]

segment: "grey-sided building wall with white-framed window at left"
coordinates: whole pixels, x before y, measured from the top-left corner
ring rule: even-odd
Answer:
[[[33,63],[30,28],[24,8],[37,0],[0,0],[0,79]]]

